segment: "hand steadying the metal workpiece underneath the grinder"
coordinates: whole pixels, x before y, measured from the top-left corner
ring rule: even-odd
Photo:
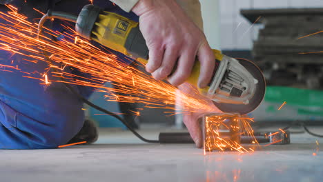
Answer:
[[[179,85],[179,90],[181,92],[184,92],[186,94],[190,94],[196,99],[203,99],[206,100],[207,103],[211,106],[213,112],[220,113],[221,111],[215,107],[213,104],[213,101],[211,99],[208,99],[200,94],[197,94],[198,91],[195,88],[195,86],[190,85],[189,83],[183,83],[182,85]],[[199,122],[199,120],[202,119],[203,114],[206,114],[205,110],[197,110],[195,112],[190,112],[187,114],[184,114],[183,121],[186,125],[188,132],[190,132],[190,136],[194,140],[197,148],[202,148],[203,141],[202,141],[202,123]]]

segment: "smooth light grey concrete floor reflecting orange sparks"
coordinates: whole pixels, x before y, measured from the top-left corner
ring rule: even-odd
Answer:
[[[142,133],[157,137],[157,132]],[[0,181],[323,181],[323,152],[313,156],[315,138],[292,134],[291,140],[253,154],[204,156],[193,145],[147,144],[128,132],[101,130],[95,145],[0,150]]]

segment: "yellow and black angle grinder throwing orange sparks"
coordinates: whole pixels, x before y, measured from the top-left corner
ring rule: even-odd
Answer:
[[[126,54],[141,63],[148,62],[148,48],[139,30],[139,23],[114,12],[101,10],[98,6],[87,5],[74,16],[65,12],[48,12],[46,19],[57,18],[76,23],[75,30],[81,37],[97,41],[101,45]],[[247,114],[257,108],[264,99],[266,83],[262,71],[251,61],[233,59],[213,50],[217,68],[213,79],[201,94],[213,100],[222,112]],[[199,61],[195,61],[187,82],[197,85],[200,71]]]

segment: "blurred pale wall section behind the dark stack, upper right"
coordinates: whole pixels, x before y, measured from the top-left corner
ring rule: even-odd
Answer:
[[[241,9],[318,7],[323,7],[322,0],[219,0],[221,48],[251,50],[253,39],[257,39],[261,25],[251,27],[239,14]]]

